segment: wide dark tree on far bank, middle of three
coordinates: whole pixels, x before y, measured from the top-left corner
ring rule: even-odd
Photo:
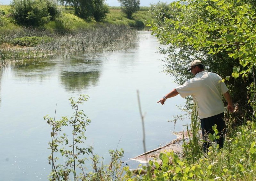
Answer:
[[[105,0],[60,0],[61,3],[66,3],[73,6],[75,15],[83,19],[95,19],[96,21],[106,18],[106,13],[109,12],[108,5]]]

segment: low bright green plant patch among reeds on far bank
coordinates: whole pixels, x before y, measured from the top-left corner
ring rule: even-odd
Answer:
[[[37,37],[37,36],[32,36],[32,37],[22,37],[22,38],[14,38],[13,39],[13,45],[20,45],[20,46],[26,46],[26,47],[35,47],[39,43],[43,42],[50,42],[52,38],[48,36],[44,37]]]

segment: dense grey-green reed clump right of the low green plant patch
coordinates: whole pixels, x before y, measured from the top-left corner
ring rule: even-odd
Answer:
[[[127,50],[135,40],[136,31],[126,26],[98,25],[93,29],[55,37],[54,41],[40,44],[35,50],[60,53]]]

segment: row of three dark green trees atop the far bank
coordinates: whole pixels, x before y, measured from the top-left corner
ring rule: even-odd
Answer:
[[[10,4],[11,15],[18,25],[41,26],[60,16],[58,1],[65,6],[72,6],[75,15],[87,21],[102,21],[109,12],[105,0],[13,0]],[[131,19],[132,14],[140,9],[140,0],[118,1],[127,18]]]

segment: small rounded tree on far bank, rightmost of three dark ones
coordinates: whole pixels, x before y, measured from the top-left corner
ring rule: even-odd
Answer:
[[[132,13],[140,10],[140,0],[118,0],[121,4],[122,11],[126,14],[127,18],[132,18]]]

